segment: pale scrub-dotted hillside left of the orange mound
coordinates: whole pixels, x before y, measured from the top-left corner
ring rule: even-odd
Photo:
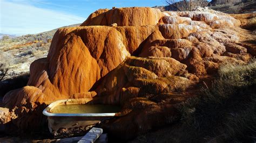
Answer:
[[[0,40],[0,81],[28,72],[31,62],[46,57],[56,31]]]

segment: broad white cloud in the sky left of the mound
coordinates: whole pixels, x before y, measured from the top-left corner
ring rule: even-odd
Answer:
[[[59,11],[36,8],[29,4],[0,0],[0,5],[0,33],[4,34],[35,34],[83,23],[86,19]]]

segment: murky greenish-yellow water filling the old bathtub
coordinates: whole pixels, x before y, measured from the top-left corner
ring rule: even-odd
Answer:
[[[51,113],[116,113],[121,109],[119,106],[104,104],[69,104],[58,105]]]

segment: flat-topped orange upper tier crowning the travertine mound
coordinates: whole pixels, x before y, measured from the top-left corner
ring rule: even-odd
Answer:
[[[111,25],[118,26],[144,26],[156,25],[163,13],[159,9],[151,8],[119,8],[99,9],[93,12],[81,26]]]

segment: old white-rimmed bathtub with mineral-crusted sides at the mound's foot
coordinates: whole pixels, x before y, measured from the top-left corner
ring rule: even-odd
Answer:
[[[65,99],[51,103],[44,109],[51,133],[60,128],[85,127],[120,115],[120,108],[113,105],[86,104],[91,99]]]

